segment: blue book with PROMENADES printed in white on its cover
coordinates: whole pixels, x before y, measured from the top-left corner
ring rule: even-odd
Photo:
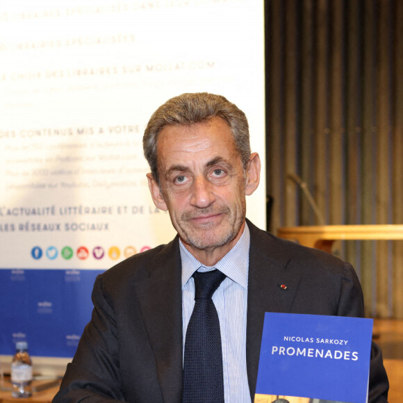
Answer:
[[[265,313],[255,403],[366,403],[372,326],[364,318]]]

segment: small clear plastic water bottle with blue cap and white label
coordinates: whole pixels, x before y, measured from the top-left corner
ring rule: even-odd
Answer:
[[[28,354],[26,341],[15,344],[16,352],[11,363],[11,382],[13,383],[13,397],[32,396],[32,361]]]

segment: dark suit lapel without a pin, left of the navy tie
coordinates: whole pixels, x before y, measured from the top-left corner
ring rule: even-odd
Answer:
[[[182,398],[182,293],[177,237],[151,258],[147,275],[135,283],[135,290],[164,402],[179,402]]]

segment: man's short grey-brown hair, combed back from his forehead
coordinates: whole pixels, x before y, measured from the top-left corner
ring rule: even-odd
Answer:
[[[142,138],[145,158],[158,183],[157,138],[164,127],[172,124],[202,123],[216,116],[224,119],[229,125],[243,167],[247,167],[251,150],[245,113],[221,95],[207,92],[181,94],[166,101],[151,115]]]

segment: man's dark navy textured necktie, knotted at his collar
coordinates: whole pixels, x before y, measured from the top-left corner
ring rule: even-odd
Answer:
[[[195,272],[195,308],[186,330],[183,403],[224,403],[220,322],[213,294],[225,279],[219,270]]]

